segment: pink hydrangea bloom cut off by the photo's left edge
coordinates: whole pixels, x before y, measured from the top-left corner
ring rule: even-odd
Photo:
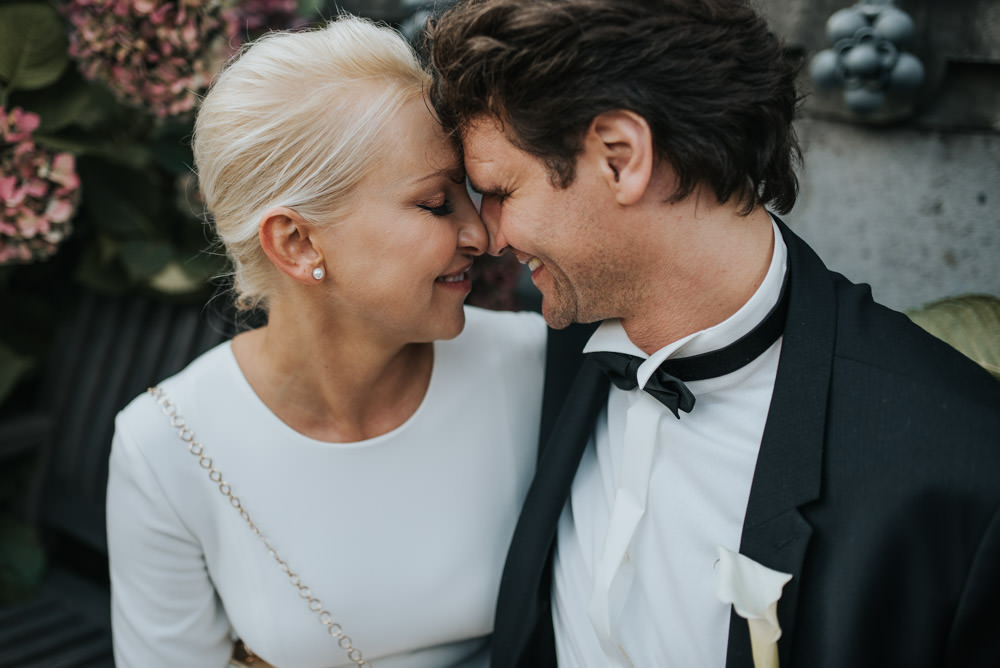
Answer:
[[[0,107],[0,265],[55,254],[80,202],[73,156],[35,145],[37,114]]]

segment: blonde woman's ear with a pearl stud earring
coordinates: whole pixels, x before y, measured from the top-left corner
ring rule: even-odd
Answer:
[[[268,209],[257,223],[260,246],[271,263],[300,283],[315,284],[323,256],[311,236],[313,226],[294,209]]]

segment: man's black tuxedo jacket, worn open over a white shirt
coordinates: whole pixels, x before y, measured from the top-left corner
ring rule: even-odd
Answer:
[[[778,604],[781,668],[997,668],[1000,383],[779,226],[789,311],[740,552],[793,575]],[[556,664],[557,519],[609,385],[580,354],[593,329],[550,335],[538,470],[501,581],[494,668]],[[752,665],[733,613],[726,667]]]

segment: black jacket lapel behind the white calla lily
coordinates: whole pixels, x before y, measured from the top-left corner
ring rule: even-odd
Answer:
[[[836,297],[819,257],[781,221],[788,247],[788,319],[761,439],[740,552],[792,580],[778,602],[779,661],[788,665],[802,562],[812,527],[799,506],[820,492],[826,405],[836,331]],[[731,613],[726,668],[752,666],[746,620]]]

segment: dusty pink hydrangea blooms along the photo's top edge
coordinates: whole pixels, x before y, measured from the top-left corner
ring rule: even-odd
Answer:
[[[69,53],[88,79],[159,117],[194,108],[240,37],[282,28],[294,0],[70,0]]]

